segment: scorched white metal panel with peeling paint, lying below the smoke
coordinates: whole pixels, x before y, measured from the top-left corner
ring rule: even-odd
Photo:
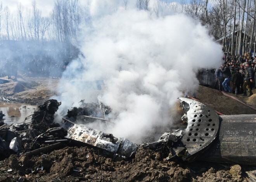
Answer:
[[[66,138],[81,141],[125,157],[130,157],[136,153],[138,148],[136,143],[133,143],[126,138],[114,138],[111,136],[112,134],[106,134],[85,125],[74,124],[74,126],[68,130]]]

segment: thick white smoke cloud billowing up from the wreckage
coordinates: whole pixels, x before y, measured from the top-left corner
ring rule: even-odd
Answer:
[[[111,107],[109,119],[116,123],[100,129],[140,143],[154,127],[171,124],[177,97],[198,88],[197,70],[221,64],[221,47],[188,16],[157,18],[131,6],[113,8],[107,0],[101,4],[114,11],[99,15],[99,2],[90,4],[92,24],[83,28],[83,57],[61,79],[61,107],[99,99]]]

